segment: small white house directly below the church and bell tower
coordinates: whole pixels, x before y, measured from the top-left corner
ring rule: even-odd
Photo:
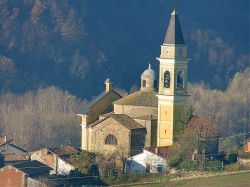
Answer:
[[[165,173],[168,170],[166,160],[144,149],[142,153],[127,159],[126,172],[128,173]]]

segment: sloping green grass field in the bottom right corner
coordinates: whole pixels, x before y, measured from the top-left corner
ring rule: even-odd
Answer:
[[[148,187],[250,187],[250,172],[226,176],[204,177],[178,181],[166,181],[161,184],[143,184]]]

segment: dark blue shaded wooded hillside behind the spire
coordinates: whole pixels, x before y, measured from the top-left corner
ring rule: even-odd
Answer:
[[[226,89],[249,66],[249,7],[245,0],[1,0],[0,91],[57,86],[90,99],[107,77],[127,90],[138,86],[149,62],[158,70],[174,8],[192,59],[189,80]]]

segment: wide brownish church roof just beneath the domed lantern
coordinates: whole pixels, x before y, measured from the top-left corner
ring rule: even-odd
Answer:
[[[157,107],[158,98],[155,91],[137,91],[113,103],[117,105]]]

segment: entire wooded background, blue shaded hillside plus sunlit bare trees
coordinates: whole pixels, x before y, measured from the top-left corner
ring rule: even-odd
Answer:
[[[148,63],[158,71],[174,8],[192,59],[195,114],[213,117],[221,136],[249,132],[249,7],[245,0],[1,0],[0,135],[29,150],[79,146],[76,113],[107,77],[127,94]]]

